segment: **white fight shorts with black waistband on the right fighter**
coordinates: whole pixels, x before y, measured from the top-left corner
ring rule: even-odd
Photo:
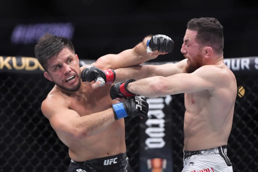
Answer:
[[[227,147],[221,146],[200,151],[183,151],[184,168],[182,172],[232,172],[227,157]]]

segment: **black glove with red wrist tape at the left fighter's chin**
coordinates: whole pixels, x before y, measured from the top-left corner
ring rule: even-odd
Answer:
[[[81,71],[81,80],[83,82],[91,82],[92,80],[95,80],[95,82],[101,81],[102,86],[112,84],[115,80],[115,71],[113,69],[103,71],[95,66],[89,66]]]

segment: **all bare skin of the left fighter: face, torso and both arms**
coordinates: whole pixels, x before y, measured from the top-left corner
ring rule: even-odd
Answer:
[[[117,55],[100,57],[92,65],[105,70],[139,65],[156,58],[161,53],[146,53],[148,39],[150,37]],[[94,90],[92,83],[81,81],[80,72],[85,67],[79,67],[78,56],[68,48],[51,57],[44,76],[56,85],[42,102],[41,110],[59,139],[69,147],[73,160],[86,161],[125,153],[124,119],[115,120],[111,108],[119,102],[109,96],[111,85]]]

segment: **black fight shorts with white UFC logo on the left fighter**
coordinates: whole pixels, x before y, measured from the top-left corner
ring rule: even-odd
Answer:
[[[68,172],[132,172],[125,153],[83,162],[71,159]]]

